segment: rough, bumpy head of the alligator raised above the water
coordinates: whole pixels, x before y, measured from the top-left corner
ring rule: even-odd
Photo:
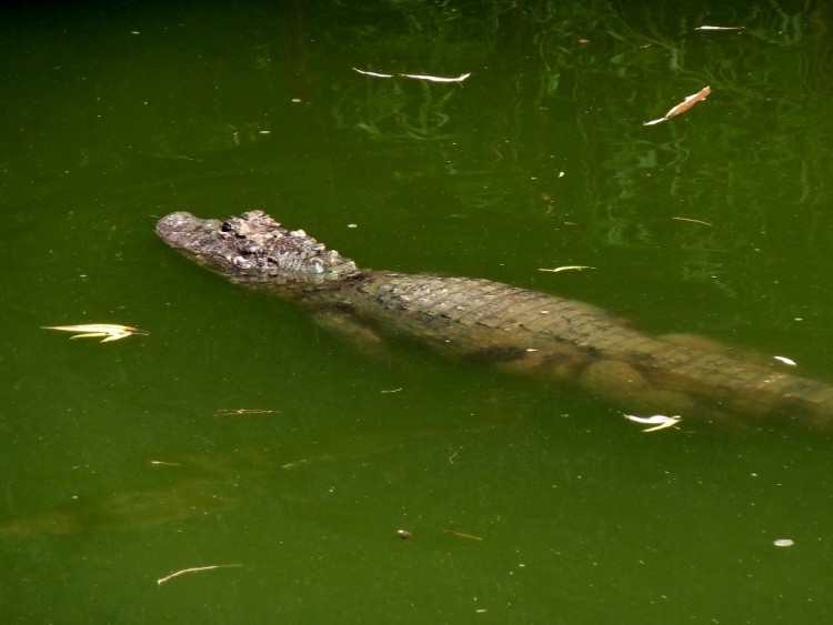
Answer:
[[[233,282],[321,284],[359,273],[350,259],[328,250],[303,230],[287,230],[263,211],[225,221],[171,213],[159,220],[157,233],[189,259]]]

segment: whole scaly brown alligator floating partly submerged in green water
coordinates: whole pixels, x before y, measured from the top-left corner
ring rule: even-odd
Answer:
[[[591,304],[490,280],[359,269],[260,210],[227,220],[174,212],[155,230],[200,265],[353,336],[415,340],[631,412],[833,426],[833,386],[707,339],[641,332]]]

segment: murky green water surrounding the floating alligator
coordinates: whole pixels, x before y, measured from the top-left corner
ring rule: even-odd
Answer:
[[[2,622],[830,619],[829,435],[644,434],[578,392],[370,357],[153,224],[261,208],[363,266],[833,380],[833,11],[351,4],[3,10]],[[93,322],[149,335],[41,329]]]

